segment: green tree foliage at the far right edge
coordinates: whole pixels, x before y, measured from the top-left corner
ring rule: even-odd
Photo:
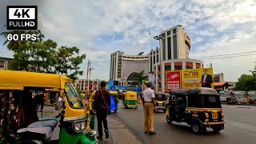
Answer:
[[[236,84],[236,90],[256,90],[256,73],[254,70],[250,70],[252,74],[242,74],[240,78],[238,78],[238,82]]]

